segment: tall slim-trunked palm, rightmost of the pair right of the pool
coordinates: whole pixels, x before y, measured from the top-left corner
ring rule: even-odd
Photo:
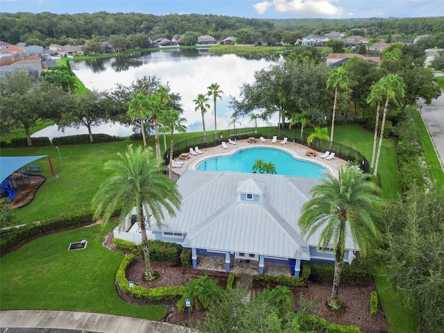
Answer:
[[[373,169],[373,176],[377,175],[377,167],[379,164],[379,155],[381,154],[381,146],[382,139],[384,138],[384,126],[386,123],[386,114],[388,108],[388,101],[390,99],[395,99],[396,97],[404,97],[405,94],[405,84],[404,80],[401,76],[397,74],[388,74],[383,76],[377,83],[378,85],[382,85],[382,89],[384,89],[386,94],[386,103],[384,105],[384,113],[382,114],[382,123],[381,123],[381,133],[379,134],[379,144],[377,147],[377,154],[375,160],[375,169]]]

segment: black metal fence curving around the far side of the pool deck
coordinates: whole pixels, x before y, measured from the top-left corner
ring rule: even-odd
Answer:
[[[330,148],[330,142],[327,140],[319,140],[314,139],[310,144],[307,143],[307,138],[311,133],[302,133],[302,137],[300,135],[300,129],[289,130],[288,128],[278,130],[276,128],[260,128],[257,131],[252,128],[239,128],[236,130],[221,130],[218,131],[217,137],[214,134],[210,134],[206,136],[204,140],[203,135],[198,137],[191,137],[189,139],[185,139],[184,141],[178,142],[173,146],[173,158],[178,157],[181,153],[188,153],[189,148],[194,148],[198,146],[199,148],[207,148],[218,146],[223,141],[228,141],[228,139],[237,140],[237,139],[248,139],[248,137],[265,137],[266,139],[272,139],[273,136],[277,136],[278,140],[284,139],[287,137],[289,142],[296,142],[298,144],[302,144],[303,146],[307,146],[316,151],[330,151],[334,152],[335,157],[339,157],[345,161],[355,161],[359,163],[359,167],[362,171],[368,173],[370,169],[370,164],[364,155],[356,151],[355,149],[345,146],[343,144],[339,144],[337,142],[332,143],[332,147]],[[165,162],[169,162],[169,150],[164,153]]]

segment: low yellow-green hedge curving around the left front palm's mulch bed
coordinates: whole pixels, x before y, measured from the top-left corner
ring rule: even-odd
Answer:
[[[126,268],[133,262],[135,255],[127,255],[123,258],[119,269],[117,270],[116,280],[121,291],[131,293],[130,283],[126,278]],[[136,284],[133,287],[133,296],[135,298],[146,298],[147,300],[173,300],[185,294],[184,286],[156,287],[146,289]],[[184,301],[185,302],[185,301]]]

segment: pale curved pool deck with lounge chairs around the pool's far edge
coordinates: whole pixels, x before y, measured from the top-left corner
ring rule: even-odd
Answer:
[[[203,152],[202,154],[198,155],[189,154],[190,157],[188,160],[183,160],[183,161],[180,160],[180,162],[183,162],[182,167],[173,168],[171,171],[173,173],[176,173],[176,177],[179,178],[182,175],[182,173],[184,173],[185,170],[196,169],[197,164],[199,162],[202,162],[203,160],[206,160],[207,158],[217,157],[217,156],[228,156],[236,153],[241,149],[247,149],[252,147],[266,147],[266,148],[272,147],[272,148],[281,149],[282,151],[290,153],[293,157],[296,157],[298,160],[314,162],[325,167],[336,177],[339,176],[338,169],[346,162],[345,160],[341,160],[338,157],[333,157],[332,160],[325,160],[325,158],[320,157],[321,155],[323,155],[324,153],[323,151],[316,151],[316,157],[309,157],[306,156],[305,153],[307,152],[307,150],[312,148],[308,148],[307,146],[302,146],[302,144],[296,144],[293,142],[287,142],[286,144],[281,144],[280,142],[281,141],[278,140],[278,142],[271,143],[271,139],[266,139],[266,142],[260,142],[259,139],[257,139],[257,142],[250,144],[247,142],[247,139],[244,139],[244,140],[237,140],[237,144],[235,145],[227,143],[228,148],[223,148],[220,144],[214,147],[199,148],[200,151]]]

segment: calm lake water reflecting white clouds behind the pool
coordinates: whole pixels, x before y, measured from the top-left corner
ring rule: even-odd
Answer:
[[[178,50],[162,49],[153,52],[132,53],[114,58],[101,58],[71,62],[71,68],[76,76],[88,89],[110,91],[115,89],[117,83],[129,86],[137,78],[143,76],[157,76],[171,92],[182,96],[182,117],[187,119],[185,124],[188,132],[202,131],[202,116],[195,111],[193,100],[198,94],[206,94],[207,87],[218,83],[223,91],[221,99],[217,99],[217,128],[230,127],[230,116],[233,110],[228,108],[230,96],[239,97],[240,87],[243,83],[253,83],[255,71],[264,69],[278,62],[281,56],[236,56],[233,54],[214,55],[205,50]],[[210,98],[210,108],[205,114],[205,129],[214,130],[213,101]],[[236,127],[253,127],[254,121],[249,117],[239,119]],[[269,126],[278,122],[278,115],[269,122],[258,120],[257,126]],[[57,126],[44,129],[33,137],[52,137],[86,134],[86,128],[76,130],[71,128],[65,133],[58,131]],[[93,133],[109,133],[126,136],[133,133],[132,128],[125,126],[108,125],[94,128]],[[67,134],[71,133],[71,134]]]

